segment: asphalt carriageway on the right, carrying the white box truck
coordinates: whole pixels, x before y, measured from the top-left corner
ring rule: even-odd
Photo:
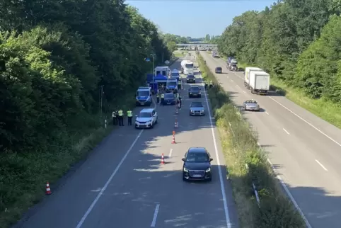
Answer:
[[[243,112],[257,130],[260,147],[308,220],[308,227],[341,227],[341,130],[284,96],[253,95],[244,87],[243,72],[230,72],[224,59],[201,52],[221,86],[241,108],[255,99],[262,110]]]

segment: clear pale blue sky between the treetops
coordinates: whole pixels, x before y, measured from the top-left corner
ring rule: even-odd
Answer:
[[[221,35],[235,16],[249,10],[262,11],[274,0],[250,1],[126,1],[163,33],[202,38]]]

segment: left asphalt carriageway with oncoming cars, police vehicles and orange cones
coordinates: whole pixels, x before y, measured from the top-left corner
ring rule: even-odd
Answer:
[[[180,68],[181,60],[171,69]],[[175,106],[156,105],[158,124],[150,130],[136,130],[125,120],[124,127],[113,130],[62,186],[52,188],[53,194],[16,227],[237,227],[207,98],[188,98],[189,86],[184,84],[181,91],[183,108],[178,115]],[[207,115],[190,117],[191,101],[202,101]],[[134,109],[134,115],[141,108]],[[175,118],[178,128],[174,127]],[[171,144],[173,130],[177,144]],[[212,155],[212,182],[182,181],[181,159],[189,147],[206,147]],[[166,159],[164,165],[160,164],[161,154]]]

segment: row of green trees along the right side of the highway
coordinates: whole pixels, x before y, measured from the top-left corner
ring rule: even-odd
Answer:
[[[257,64],[312,98],[341,101],[341,1],[284,0],[233,18],[219,52]]]

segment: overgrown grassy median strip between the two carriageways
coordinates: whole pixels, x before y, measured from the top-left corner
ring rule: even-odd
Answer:
[[[226,172],[231,180],[241,227],[305,227],[301,215],[274,178],[266,156],[257,144],[257,135],[250,130],[248,122],[235,108],[228,93],[217,84],[214,74],[200,55],[197,60],[203,79],[216,84],[208,91],[209,100],[219,129],[228,167]],[[248,164],[248,169],[245,164]],[[258,190],[260,208],[252,183]]]

